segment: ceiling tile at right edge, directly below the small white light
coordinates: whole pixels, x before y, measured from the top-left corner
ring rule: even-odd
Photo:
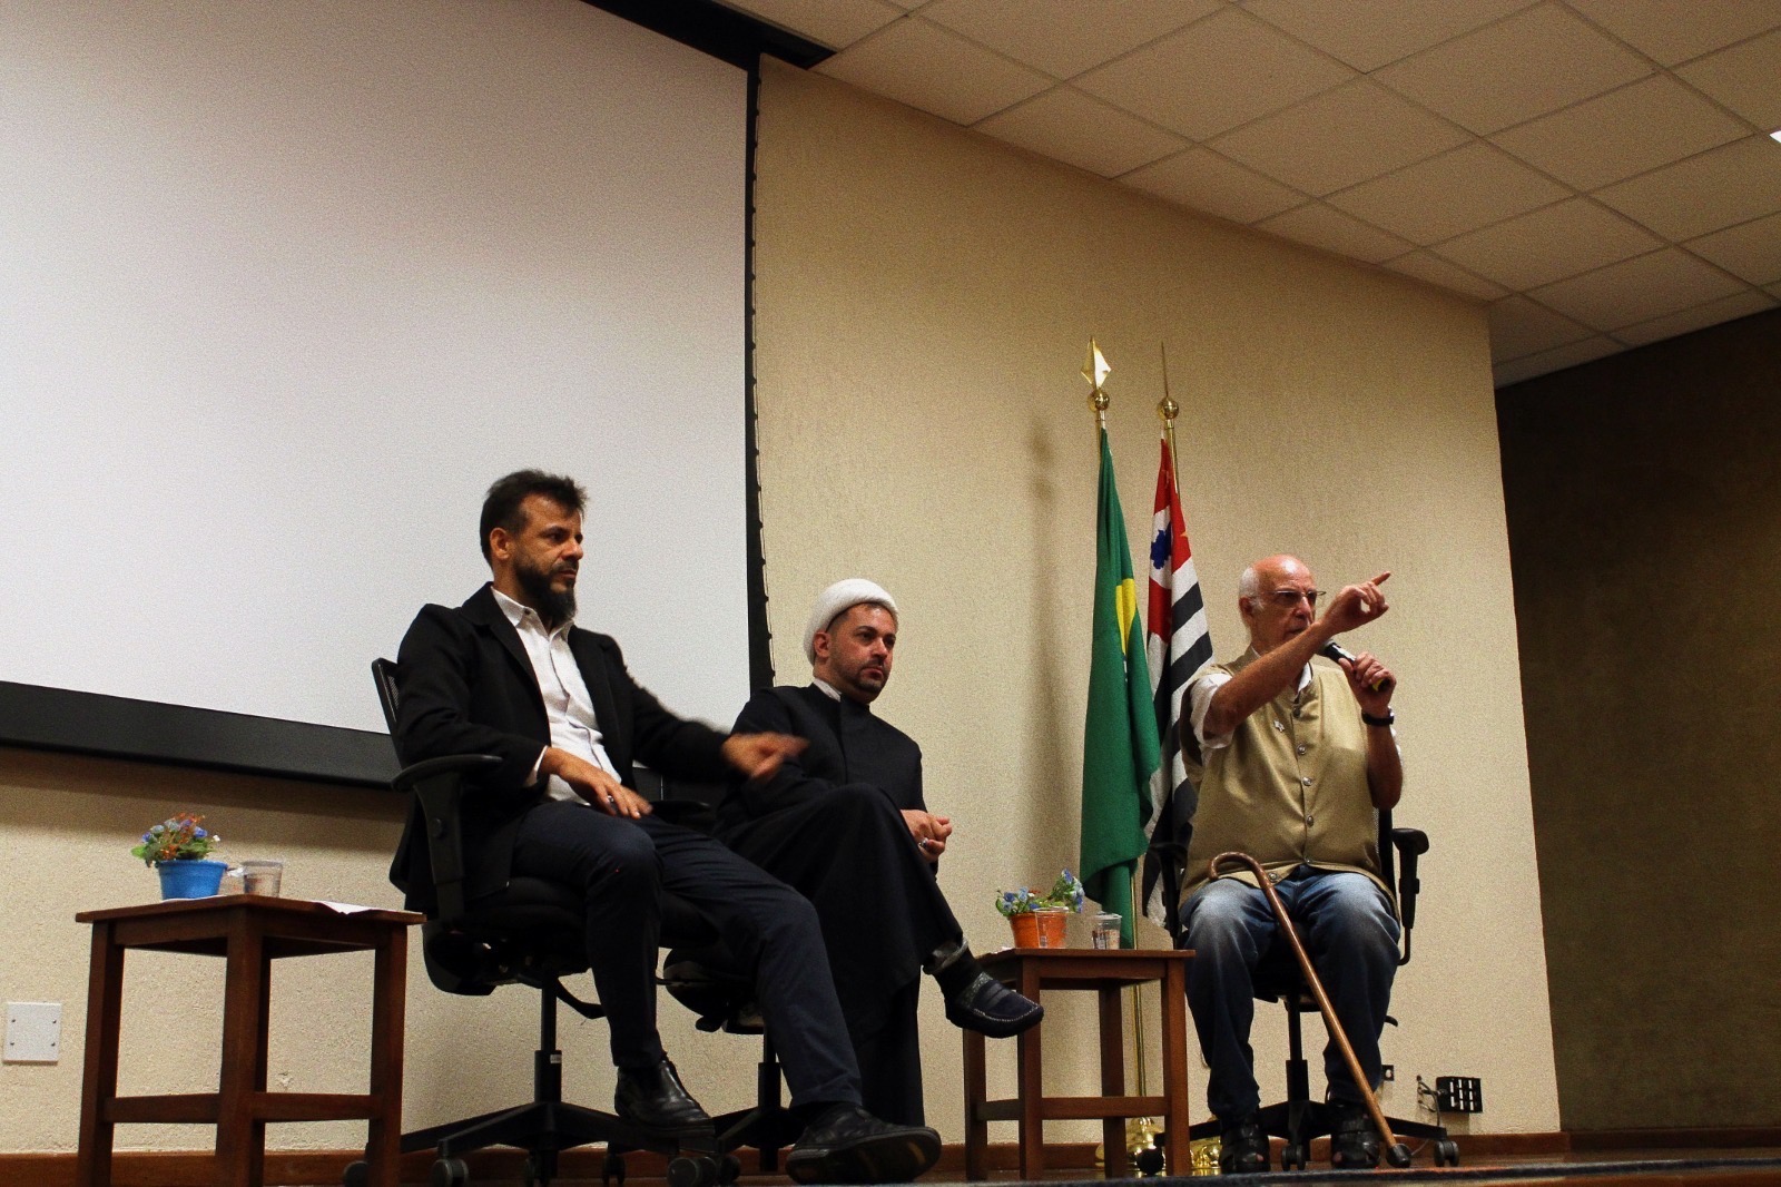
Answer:
[[[1781,144],[1749,135],[1599,189],[1596,198],[1665,239],[1694,239],[1774,212]]]

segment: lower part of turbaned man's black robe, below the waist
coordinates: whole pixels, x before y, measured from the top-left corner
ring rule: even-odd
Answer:
[[[866,1109],[923,1125],[921,964],[960,927],[903,813],[848,782],[725,829],[723,841],[816,904]]]

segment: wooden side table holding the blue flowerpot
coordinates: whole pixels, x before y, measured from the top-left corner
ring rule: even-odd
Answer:
[[[214,1125],[216,1182],[221,1187],[262,1187],[269,1121],[358,1117],[370,1123],[365,1142],[370,1183],[397,1187],[408,929],[422,916],[406,911],[342,914],[317,902],[228,895],[84,911],[75,920],[93,925],[77,1187],[110,1185],[112,1134],[119,1123]],[[123,954],[128,948],[214,955],[228,962],[219,1091],[118,1096],[118,1023],[123,1016]],[[376,954],[370,1089],[363,1094],[267,1093],[272,961],[365,950]]]

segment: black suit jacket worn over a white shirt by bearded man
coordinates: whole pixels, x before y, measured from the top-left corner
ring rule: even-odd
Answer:
[[[570,627],[568,647],[620,782],[636,786],[636,759],[671,777],[725,779],[725,734],[664,709],[630,679],[611,636]],[[499,891],[511,875],[520,816],[545,798],[543,779],[527,786],[550,745],[550,722],[525,643],[484,585],[456,610],[424,606],[403,636],[397,665],[395,749],[403,763],[443,754],[500,759],[463,804],[465,896]],[[433,875],[417,811],[410,811],[390,880],[408,895],[410,909],[431,909]]]

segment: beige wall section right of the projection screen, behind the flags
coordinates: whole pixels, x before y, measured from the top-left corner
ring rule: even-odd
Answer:
[[[1236,574],[1263,553],[1298,551],[1323,585],[1396,574],[1393,615],[1357,642],[1403,675],[1400,820],[1425,825],[1434,852],[1395,1002],[1403,1028],[1386,1039],[1400,1073],[1387,1103],[1412,1110],[1416,1075],[1476,1075],[1478,1130],[1557,1128],[1480,310],[819,77],[769,66],[760,107],[775,659],[801,677],[798,631],[828,581],[858,572],[898,597],[880,708],[923,743],[928,798],[956,818],[942,882],[967,934],[1001,943],[992,891],[1076,859],[1095,497],[1076,372],[1095,335],[1143,565],[1167,342],[1220,652],[1241,647]],[[930,1116],[956,1137],[958,1039],[928,1009]],[[1047,1052],[1086,1087],[1081,1023]],[[1281,1030],[1261,1016],[1270,1094]]]

